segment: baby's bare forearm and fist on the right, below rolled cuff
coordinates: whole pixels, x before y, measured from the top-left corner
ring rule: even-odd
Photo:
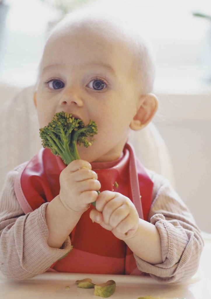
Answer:
[[[139,219],[136,207],[128,197],[118,192],[102,191],[90,218],[123,240],[141,259],[151,264],[162,263],[158,229],[152,223]]]

